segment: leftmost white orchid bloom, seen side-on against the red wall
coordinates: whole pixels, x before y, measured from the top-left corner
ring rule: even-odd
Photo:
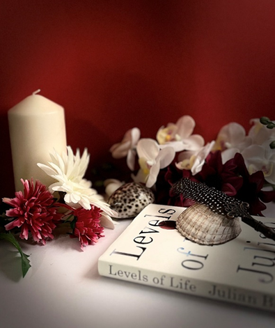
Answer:
[[[141,132],[138,127],[128,130],[123,136],[120,143],[115,143],[110,148],[113,158],[127,157],[127,166],[131,171],[134,171],[134,160],[136,157],[136,143],[139,141]]]

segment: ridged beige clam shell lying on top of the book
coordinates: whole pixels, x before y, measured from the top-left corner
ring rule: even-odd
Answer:
[[[238,217],[227,219],[199,203],[191,205],[180,214],[176,228],[187,239],[204,245],[229,242],[242,231]]]

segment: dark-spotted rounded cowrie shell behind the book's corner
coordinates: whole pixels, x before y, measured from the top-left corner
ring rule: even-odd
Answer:
[[[129,182],[116,189],[109,198],[112,210],[118,212],[118,219],[136,217],[143,208],[154,203],[155,196],[151,189],[136,182]]]

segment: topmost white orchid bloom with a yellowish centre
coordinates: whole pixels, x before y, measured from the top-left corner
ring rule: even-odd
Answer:
[[[199,150],[205,141],[202,136],[192,134],[196,123],[189,115],[178,119],[177,123],[168,123],[157,132],[157,141],[160,148],[171,146],[176,152],[182,150]]]

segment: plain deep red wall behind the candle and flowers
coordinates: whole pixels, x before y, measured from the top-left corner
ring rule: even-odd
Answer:
[[[91,153],[88,175],[134,126],[155,138],[189,114],[211,141],[275,119],[274,17],[274,0],[2,0],[0,196],[13,196],[7,111],[38,88]]]

